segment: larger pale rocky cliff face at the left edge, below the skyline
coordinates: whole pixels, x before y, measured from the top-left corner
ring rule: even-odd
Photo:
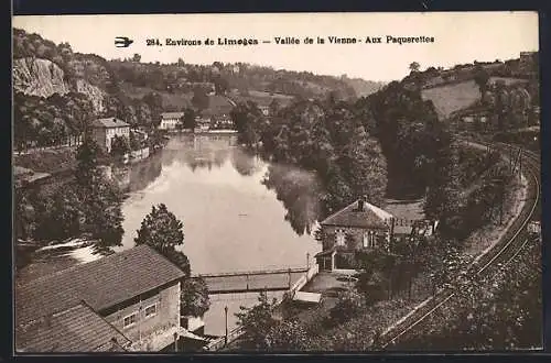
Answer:
[[[40,97],[65,95],[69,91],[63,79],[63,70],[55,63],[33,58],[13,61],[13,88],[25,95]]]

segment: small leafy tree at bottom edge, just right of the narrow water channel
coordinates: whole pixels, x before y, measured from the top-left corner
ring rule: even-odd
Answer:
[[[238,326],[245,331],[244,349],[266,350],[267,334],[277,326],[278,321],[272,316],[276,299],[270,301],[266,292],[260,293],[259,304],[252,308],[240,307],[240,312],[236,312]]]

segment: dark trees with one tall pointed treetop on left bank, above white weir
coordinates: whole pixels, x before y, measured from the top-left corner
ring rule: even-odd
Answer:
[[[52,193],[17,187],[21,204],[15,212],[15,237],[23,240],[62,241],[87,235],[99,253],[121,245],[122,195],[99,168],[99,147],[89,139],[77,151],[75,178]]]

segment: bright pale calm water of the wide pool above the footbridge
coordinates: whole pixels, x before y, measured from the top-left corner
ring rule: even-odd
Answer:
[[[122,249],[134,245],[151,207],[165,204],[183,221],[182,251],[193,274],[305,266],[306,253],[321,246],[307,232],[299,235],[277,191],[262,183],[269,165],[234,144],[233,135],[174,136],[134,166],[122,206]],[[301,177],[296,169],[287,174]]]

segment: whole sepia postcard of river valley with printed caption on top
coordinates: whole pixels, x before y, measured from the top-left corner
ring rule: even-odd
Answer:
[[[15,354],[542,349],[537,12],[12,26]]]

